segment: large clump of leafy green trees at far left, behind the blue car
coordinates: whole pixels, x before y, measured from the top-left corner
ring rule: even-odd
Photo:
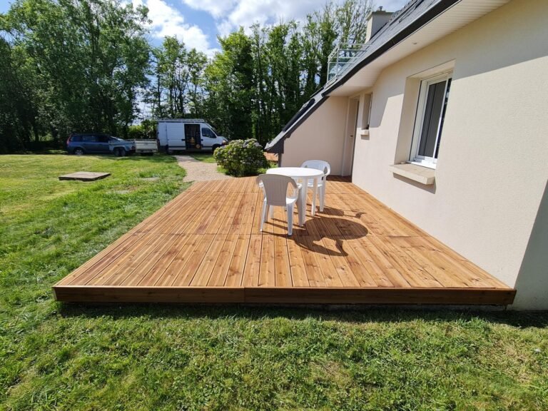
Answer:
[[[2,16],[0,34],[10,40],[0,51],[11,93],[27,108],[16,103],[15,124],[0,126],[3,139],[64,140],[72,131],[125,136],[148,84],[146,13],[121,0],[15,1]]]

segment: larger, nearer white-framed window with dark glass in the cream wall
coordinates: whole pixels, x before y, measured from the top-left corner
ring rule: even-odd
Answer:
[[[430,168],[436,167],[451,78],[452,73],[443,73],[426,78],[420,83],[410,155],[411,163]]]

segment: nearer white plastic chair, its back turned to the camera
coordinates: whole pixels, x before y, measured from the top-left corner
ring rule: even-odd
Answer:
[[[260,230],[263,231],[263,225],[268,218],[268,208],[270,207],[270,217],[272,217],[274,207],[283,207],[288,211],[288,235],[292,235],[293,208],[297,203],[297,210],[300,213],[300,190],[302,186],[295,183],[293,178],[276,174],[261,174],[257,176],[257,183],[263,188],[265,195],[263,215],[260,218]],[[288,196],[288,186],[293,188],[293,193],[290,196]]]

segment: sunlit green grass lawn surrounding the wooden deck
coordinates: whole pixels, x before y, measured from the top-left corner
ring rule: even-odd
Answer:
[[[182,179],[168,156],[0,156],[0,410],[548,409],[547,313],[54,302]]]

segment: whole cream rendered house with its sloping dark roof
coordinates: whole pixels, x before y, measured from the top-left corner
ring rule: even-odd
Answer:
[[[414,0],[267,146],[330,162],[548,309],[548,3]]]

